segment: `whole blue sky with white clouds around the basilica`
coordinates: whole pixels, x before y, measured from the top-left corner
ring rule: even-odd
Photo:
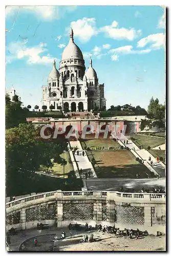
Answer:
[[[90,56],[106,106],[165,100],[165,21],[159,6],[30,6],[6,8],[6,89],[13,85],[24,105],[41,106],[53,58],[58,69],[69,41]]]

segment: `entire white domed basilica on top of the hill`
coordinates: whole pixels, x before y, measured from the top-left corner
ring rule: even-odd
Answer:
[[[99,84],[92,59],[86,71],[83,55],[74,42],[72,29],[69,44],[62,53],[59,71],[54,60],[47,86],[42,87],[42,96],[42,105],[46,105],[47,110],[105,110],[104,83]]]

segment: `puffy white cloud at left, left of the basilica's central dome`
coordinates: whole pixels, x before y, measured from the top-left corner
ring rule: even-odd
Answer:
[[[40,42],[38,46],[26,47],[23,42],[11,42],[7,48],[7,52],[11,55],[6,56],[6,63],[11,63],[15,59],[27,58],[29,64],[47,64],[53,62],[53,57],[50,54],[45,54],[48,50],[45,48],[47,44]]]

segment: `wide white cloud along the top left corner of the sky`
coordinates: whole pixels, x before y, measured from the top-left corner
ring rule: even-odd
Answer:
[[[76,10],[76,6],[7,6],[6,17],[14,15],[18,11],[30,12],[45,20],[60,19],[66,13]]]

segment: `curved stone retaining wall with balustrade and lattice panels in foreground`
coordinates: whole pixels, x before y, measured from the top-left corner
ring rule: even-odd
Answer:
[[[36,227],[37,222],[139,228],[165,233],[165,195],[118,191],[52,191],[6,204],[6,229]]]

